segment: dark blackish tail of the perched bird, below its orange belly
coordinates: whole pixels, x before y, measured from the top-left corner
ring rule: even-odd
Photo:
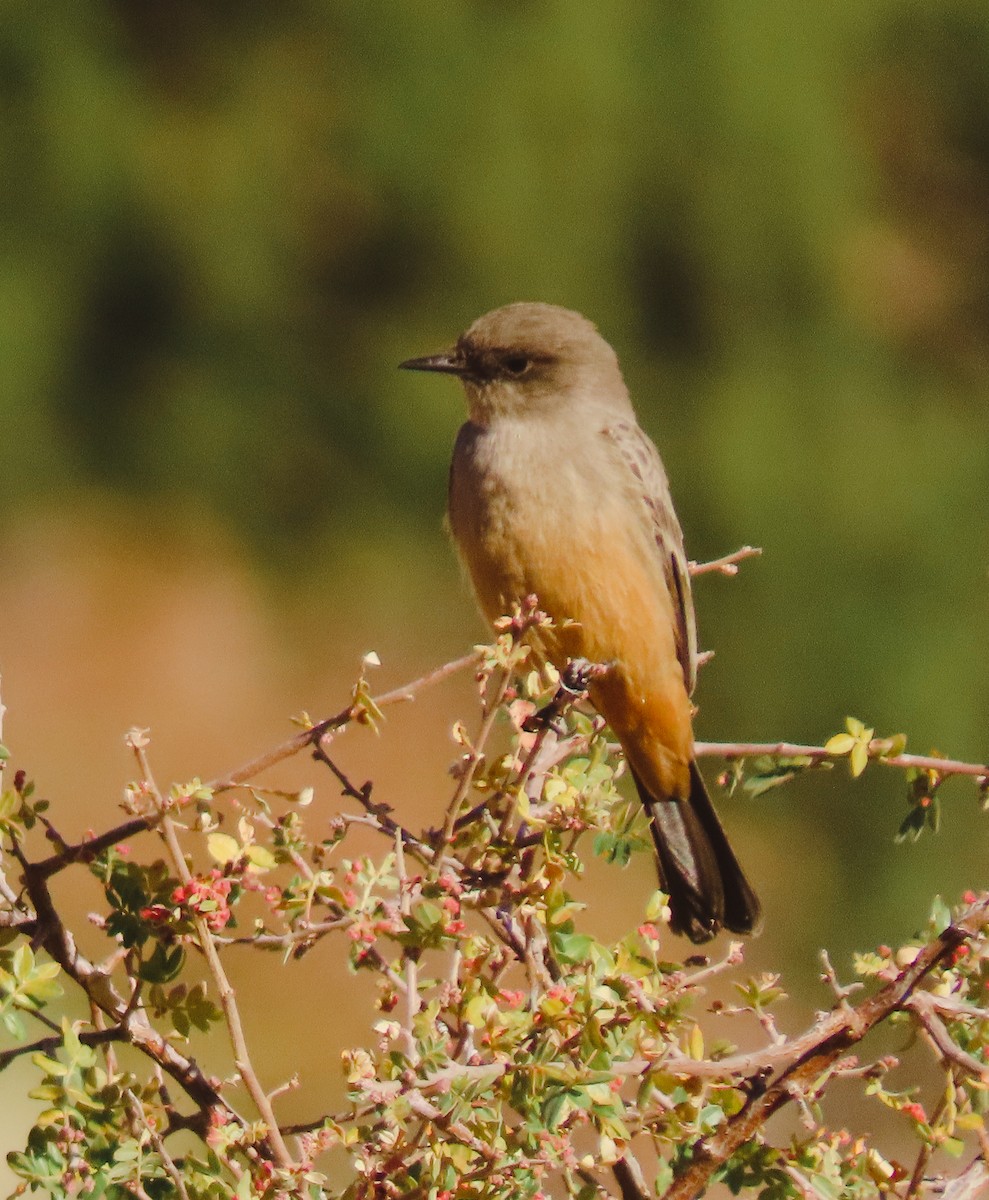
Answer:
[[[691,942],[707,942],[721,928],[759,932],[759,899],[729,845],[697,764],[690,763],[689,800],[655,799],[635,772],[633,778],[649,816],[673,932]]]

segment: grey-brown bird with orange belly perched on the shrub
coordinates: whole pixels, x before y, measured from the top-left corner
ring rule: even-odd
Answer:
[[[757,932],[760,902],[694,754],[683,534],[615,350],[581,313],[517,302],[401,367],[456,376],[466,394],[448,521],[482,614],[495,624],[535,595],[552,620],[537,653],[606,667],[588,696],[646,809],[671,929],[696,943]]]

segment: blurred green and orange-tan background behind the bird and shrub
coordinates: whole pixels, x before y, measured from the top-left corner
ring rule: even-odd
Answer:
[[[852,713],[989,756],[989,12],[798,10],[7,0],[4,740],[66,835],[116,818],[132,725],[163,781],[209,778],[337,710],[365,650],[385,689],[482,636],[442,532],[461,396],[395,366],[519,299],[616,346],[691,557],[765,550],[697,581],[700,738]],[[428,823],[474,712],[452,680],[341,762]],[[987,883],[975,788],[943,802],[916,846],[880,768],[721,802],[784,1027],[825,1003],[820,946],[847,976]],[[640,919],[645,858],[591,874]],[[311,1116],[370,992],[329,943],[241,954],[263,1074],[307,1063]]]

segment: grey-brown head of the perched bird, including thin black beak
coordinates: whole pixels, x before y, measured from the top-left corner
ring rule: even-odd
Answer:
[[[451,349],[401,366],[457,376],[472,420],[480,424],[575,403],[610,410],[628,407],[615,350],[581,313],[550,304],[495,308]]]

